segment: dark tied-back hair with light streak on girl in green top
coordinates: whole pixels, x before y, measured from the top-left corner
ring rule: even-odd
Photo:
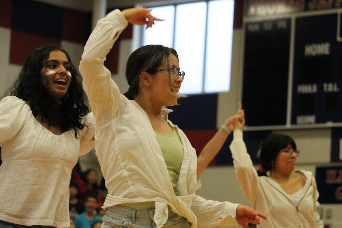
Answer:
[[[151,75],[155,74],[158,67],[167,61],[171,54],[178,59],[176,50],[163,45],[146,45],[135,50],[127,60],[126,78],[130,87],[123,95],[133,100],[140,92],[141,73],[146,71]]]

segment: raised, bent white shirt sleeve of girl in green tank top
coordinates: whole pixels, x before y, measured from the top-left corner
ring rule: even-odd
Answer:
[[[91,33],[80,62],[83,89],[86,91],[96,124],[101,126],[116,116],[120,90],[103,65],[106,55],[128,22],[119,10],[100,19]]]

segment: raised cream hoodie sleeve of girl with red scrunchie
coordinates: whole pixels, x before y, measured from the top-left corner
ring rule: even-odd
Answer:
[[[236,178],[246,199],[255,208],[258,195],[259,176],[242,139],[242,131],[234,130],[234,139],[229,148],[232,151]]]

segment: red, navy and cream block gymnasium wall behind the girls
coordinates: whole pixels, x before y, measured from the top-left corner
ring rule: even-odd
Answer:
[[[122,1],[108,0],[110,9],[127,7],[129,4],[134,5],[135,3],[137,1],[126,0],[123,5]],[[89,7],[89,4],[87,6]],[[185,132],[197,153],[224,123],[225,119],[235,113],[237,108],[240,97],[239,88],[241,88],[242,82],[241,53],[244,36],[242,8],[242,0],[236,0],[231,90],[226,93],[182,98],[181,105],[173,107],[174,112],[169,115],[169,118]],[[25,57],[42,44],[61,45],[78,67],[83,46],[90,32],[91,11],[89,9],[71,9],[61,5],[30,0],[0,1],[0,96],[3,96],[17,77]],[[124,71],[128,56],[132,52],[132,33],[132,27],[124,31],[108,54],[106,61],[106,66],[111,70],[112,78],[122,93],[126,92],[128,88]],[[187,83],[186,80],[184,83]],[[301,155],[297,159],[298,169],[310,170],[314,174],[317,167],[334,166],[337,170],[342,170],[340,128],[245,131],[244,140],[254,164],[258,164],[255,155],[261,140],[271,132],[289,134],[295,139],[297,147],[301,151]],[[231,140],[232,135],[228,137],[218,156],[211,162],[211,166],[203,172],[202,188],[198,190],[198,195],[212,200],[226,200],[249,205],[236,181],[229,151]],[[100,172],[94,151],[82,156],[80,161],[83,170],[96,166]],[[325,186],[326,180],[317,180],[317,185]],[[320,194],[324,195],[325,192],[321,191]],[[340,194],[342,198],[342,193]],[[340,200],[342,202],[342,199]],[[330,225],[330,228],[342,227],[341,202],[325,203],[320,206],[322,219],[326,225]]]

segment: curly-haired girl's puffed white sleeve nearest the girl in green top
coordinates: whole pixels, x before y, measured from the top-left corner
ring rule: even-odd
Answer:
[[[95,118],[92,112],[88,113],[83,117],[84,126],[82,129],[82,135],[80,138],[80,154],[85,155],[88,153],[95,145],[95,140],[92,140],[95,135]]]

